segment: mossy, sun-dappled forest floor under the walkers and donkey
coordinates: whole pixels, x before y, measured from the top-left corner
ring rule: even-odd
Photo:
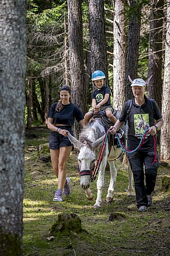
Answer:
[[[64,197],[63,202],[54,202],[57,179],[48,156],[40,159],[38,155],[38,146],[48,142],[48,134],[45,127],[33,127],[31,131],[26,131],[24,256],[170,255],[170,193],[161,190],[163,176],[170,176],[168,163],[162,163],[159,167],[153,205],[147,212],[138,213],[135,197],[128,197],[125,191],[128,174],[119,161],[114,201],[108,205],[104,202],[110,179],[106,169],[103,203],[99,210],[95,210],[96,181],[91,183],[94,199],[88,201],[80,187],[77,156],[72,154],[67,164],[71,195]],[[82,232],[48,240],[51,226],[59,213],[79,216]],[[123,217],[110,221],[111,213],[122,213]]]

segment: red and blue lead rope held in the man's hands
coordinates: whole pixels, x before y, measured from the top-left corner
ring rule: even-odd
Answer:
[[[100,153],[99,153],[99,157],[98,157],[98,161],[96,162],[96,165],[95,165],[95,169],[94,171],[92,172],[91,174],[91,182],[93,182],[95,179],[96,179],[96,176],[98,175],[98,172],[99,172],[99,167],[100,167],[100,164],[103,160],[103,156],[104,156],[104,152],[105,152],[105,148],[106,148],[106,141],[108,139],[108,133],[109,133],[110,129],[108,129],[105,133],[105,137],[103,139],[103,144],[101,146],[101,150],[100,150]],[[120,140],[120,137],[119,137],[119,134],[116,132],[115,135],[116,137],[118,138],[118,142],[119,142],[119,145],[120,147],[122,148],[122,150],[124,152],[127,152],[127,153],[133,153],[135,151],[137,151],[140,147],[142,147],[143,145],[143,142],[145,140],[145,137],[147,136],[147,133],[148,133],[149,129],[147,129],[143,135],[142,135],[142,138],[140,139],[140,142],[139,142],[139,145],[137,148],[135,148],[134,150],[128,150],[127,148],[125,148],[123,146],[123,143],[122,141]],[[156,148],[156,136],[154,135],[153,136],[153,144],[154,144],[154,160],[153,160],[153,163],[152,165],[157,162],[157,148]]]

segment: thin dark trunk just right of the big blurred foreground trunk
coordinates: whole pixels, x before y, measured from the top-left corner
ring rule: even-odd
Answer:
[[[27,129],[31,129],[32,122],[32,83],[33,71],[30,71],[30,78],[28,80],[28,97],[27,97]]]

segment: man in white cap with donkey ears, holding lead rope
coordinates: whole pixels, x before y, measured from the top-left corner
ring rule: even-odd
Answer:
[[[145,95],[145,82],[141,78],[131,80],[132,104],[127,101],[122,109],[119,120],[110,127],[110,133],[115,134],[128,121],[128,150],[135,150],[146,129],[149,128],[142,147],[133,153],[128,153],[130,167],[133,172],[134,186],[138,212],[144,212],[152,204],[152,192],[156,185],[158,155],[154,161],[154,138],[153,136],[161,129],[163,119],[156,101],[149,100]],[[129,113],[128,113],[129,112]],[[156,120],[156,125],[154,125]],[[145,175],[145,185],[144,185]]]

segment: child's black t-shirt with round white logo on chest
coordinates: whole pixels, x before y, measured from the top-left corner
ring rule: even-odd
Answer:
[[[108,86],[103,86],[100,90],[98,89],[94,90],[94,92],[92,92],[91,94],[91,99],[95,99],[96,104],[99,104],[104,99],[106,94],[109,94],[109,99],[102,106],[111,106],[111,102],[110,102],[111,91]]]

